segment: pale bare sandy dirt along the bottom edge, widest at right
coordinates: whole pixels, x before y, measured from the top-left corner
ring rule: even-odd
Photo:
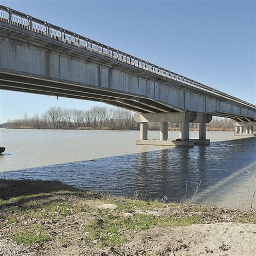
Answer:
[[[0,238],[0,255],[83,255],[83,254],[211,254],[255,255],[256,225],[241,223],[199,224],[185,227],[156,227],[135,235],[118,251],[93,250],[79,245],[37,250]]]

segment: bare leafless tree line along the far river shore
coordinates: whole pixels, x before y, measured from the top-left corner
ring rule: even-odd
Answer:
[[[233,130],[232,119],[214,117],[207,124],[208,130]],[[0,127],[12,129],[84,129],[84,130],[139,130],[139,124],[133,119],[133,112],[116,107],[94,106],[89,110],[65,109],[52,106],[43,114],[21,119],[8,120]],[[159,130],[158,123],[150,123],[150,130]],[[178,130],[179,124],[169,124],[170,130]],[[191,123],[191,129],[197,130],[198,124]]]

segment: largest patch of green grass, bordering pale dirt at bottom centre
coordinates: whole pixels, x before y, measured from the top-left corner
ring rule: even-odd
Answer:
[[[99,246],[120,246],[127,240],[127,236],[156,226],[186,226],[204,223],[200,214],[193,217],[176,218],[169,214],[165,217],[156,217],[153,214],[135,213],[132,217],[121,214],[112,214],[107,210],[98,210],[96,217],[90,221],[85,238],[89,244],[97,241]]]

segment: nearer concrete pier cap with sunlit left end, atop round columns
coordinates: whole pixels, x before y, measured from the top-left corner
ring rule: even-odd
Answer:
[[[196,120],[196,112],[173,112],[173,113],[136,113],[134,120],[138,123],[169,122],[169,123],[190,123]]]

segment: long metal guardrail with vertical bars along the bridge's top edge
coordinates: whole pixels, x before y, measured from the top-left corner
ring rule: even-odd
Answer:
[[[104,45],[102,43],[93,41],[90,38],[77,35],[71,31],[59,28],[56,25],[50,24],[48,22],[41,21],[40,19],[33,18],[29,15],[23,14],[22,12],[12,10],[3,5],[0,5],[0,21],[18,26],[26,30],[33,31],[35,33],[44,35],[56,39],[57,41],[67,43],[70,45],[75,45],[78,48],[86,49],[91,52],[98,53],[99,55],[109,57],[111,59],[119,60],[120,62],[136,66],[137,68],[156,73],[157,75],[176,80],[178,82],[196,87],[198,89],[213,93],[214,95],[224,97],[228,100],[256,108],[255,105],[245,102],[239,98],[228,95],[224,92],[213,89],[210,86],[199,83],[190,78],[178,75],[170,70],[163,69],[157,65],[146,62],[145,60],[136,58],[125,52],[111,48],[110,46]]]

